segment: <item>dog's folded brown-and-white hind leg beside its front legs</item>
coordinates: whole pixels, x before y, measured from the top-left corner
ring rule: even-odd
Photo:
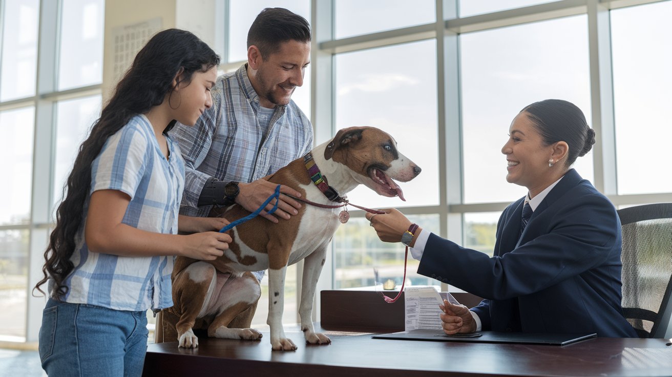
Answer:
[[[261,287],[255,276],[247,271],[243,276],[218,274],[223,283],[215,302],[218,315],[208,327],[208,336],[224,339],[259,340],[261,333],[249,329],[261,296]],[[218,285],[221,282],[218,282]]]

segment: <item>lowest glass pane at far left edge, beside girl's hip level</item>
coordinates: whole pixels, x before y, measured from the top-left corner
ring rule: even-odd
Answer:
[[[0,340],[25,341],[28,231],[0,231]]]

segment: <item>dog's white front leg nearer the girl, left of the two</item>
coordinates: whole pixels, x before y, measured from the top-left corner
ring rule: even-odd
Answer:
[[[294,351],[296,345],[285,336],[282,327],[282,312],[285,303],[285,275],[287,265],[280,269],[268,269],[268,319],[271,327],[271,347],[274,350]]]

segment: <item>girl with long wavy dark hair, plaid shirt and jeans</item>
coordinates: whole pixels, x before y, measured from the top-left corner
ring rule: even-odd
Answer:
[[[35,287],[49,282],[39,349],[50,376],[140,376],[145,312],[173,305],[172,255],[228,248],[216,231],[226,220],[178,216],[184,162],[167,136],[212,106],[218,63],[194,34],[159,32],[79,148]]]

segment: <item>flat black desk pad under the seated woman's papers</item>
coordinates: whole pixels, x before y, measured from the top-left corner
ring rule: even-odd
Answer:
[[[566,345],[597,337],[596,333],[500,333],[496,331],[480,331],[474,334],[459,334],[450,336],[441,330],[411,330],[398,333],[374,335],[374,339],[400,339],[400,340],[423,340],[423,341],[466,341],[472,343],[532,343]]]

